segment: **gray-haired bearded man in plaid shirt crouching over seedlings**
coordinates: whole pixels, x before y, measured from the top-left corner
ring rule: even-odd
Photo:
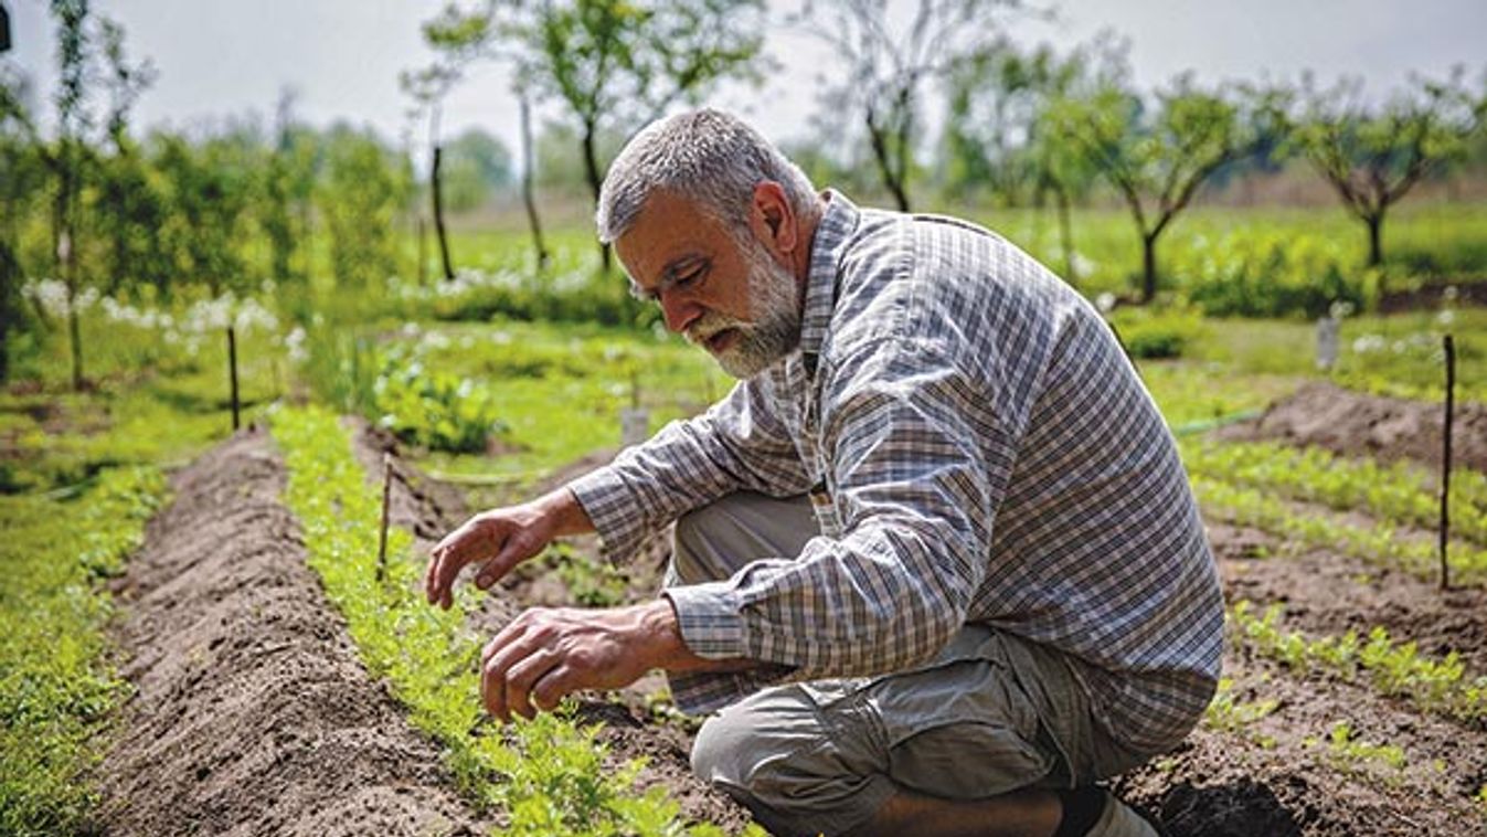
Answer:
[[[488,711],[668,672],[721,709],[696,772],[781,834],[1154,834],[1094,782],[1212,697],[1213,559],[1170,434],[1109,329],[996,235],[859,210],[738,119],[645,128],[599,236],[742,382],[611,465],[434,547],[489,587],[552,538],[610,558],[677,520],[666,589],[531,610]]]

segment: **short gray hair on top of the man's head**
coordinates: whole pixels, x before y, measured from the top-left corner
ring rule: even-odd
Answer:
[[[735,236],[746,233],[754,187],[766,180],[779,183],[797,216],[815,216],[810,178],[739,117],[703,109],[657,119],[610,165],[595,214],[599,241],[625,235],[657,190],[696,201]]]

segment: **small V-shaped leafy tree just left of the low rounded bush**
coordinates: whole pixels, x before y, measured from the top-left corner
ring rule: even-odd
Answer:
[[[1285,91],[1199,88],[1191,74],[1148,107],[1124,83],[1069,97],[1048,110],[1047,129],[1096,167],[1136,222],[1142,244],[1141,300],[1157,296],[1157,241],[1219,167],[1251,153],[1282,120]]]

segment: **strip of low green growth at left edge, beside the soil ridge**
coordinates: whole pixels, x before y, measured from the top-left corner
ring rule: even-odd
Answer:
[[[109,709],[101,580],[122,572],[164,501],[150,468],[103,473],[68,501],[0,497],[0,834],[88,831]]]

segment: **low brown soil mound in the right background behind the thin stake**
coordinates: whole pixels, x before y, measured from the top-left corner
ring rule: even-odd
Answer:
[[[1453,464],[1487,471],[1487,406],[1457,403],[1454,412]],[[1316,445],[1344,456],[1414,459],[1439,467],[1442,413],[1441,404],[1309,384],[1271,404],[1258,419],[1227,427],[1215,436]]]

